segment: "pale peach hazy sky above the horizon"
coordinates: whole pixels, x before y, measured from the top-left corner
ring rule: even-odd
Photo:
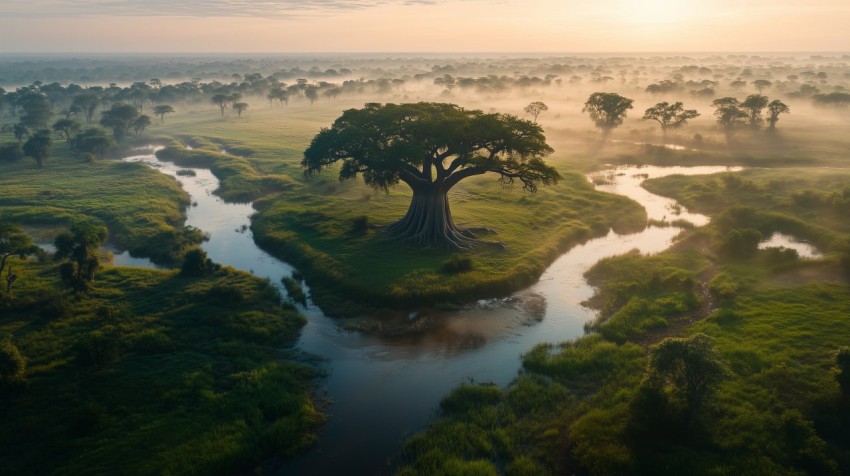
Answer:
[[[850,0],[0,0],[0,52],[847,52]]]

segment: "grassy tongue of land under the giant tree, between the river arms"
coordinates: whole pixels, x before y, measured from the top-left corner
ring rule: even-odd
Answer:
[[[449,194],[455,221],[486,230],[481,238],[505,250],[480,246],[467,253],[471,270],[443,272],[451,253],[389,243],[375,227],[356,225],[363,217],[377,226],[401,218],[410,202],[405,187],[376,192],[360,180],[339,182],[334,170],[303,176],[304,148],[346,106],[299,106],[292,114],[271,108],[224,119],[194,110],[152,131],[152,140],[166,144],[157,153],[162,160],[208,167],[221,180],[217,194],[255,200],[257,243],[301,270],[314,301],[332,315],[510,293],[532,284],[570,246],[611,227],[625,232],[646,223],[637,204],[596,192],[571,171],[576,152],[556,152],[549,163],[564,179],[536,194],[505,188],[486,175],[455,187]]]

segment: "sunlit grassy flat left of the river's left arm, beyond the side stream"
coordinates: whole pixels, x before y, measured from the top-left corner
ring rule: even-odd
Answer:
[[[0,220],[67,226],[94,220],[136,256],[174,264],[198,242],[183,228],[189,197],[171,177],[138,163],[85,162],[64,144],[44,168],[29,160],[0,163]]]

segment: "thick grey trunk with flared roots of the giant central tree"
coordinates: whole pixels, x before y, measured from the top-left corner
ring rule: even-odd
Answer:
[[[407,214],[387,227],[387,238],[429,247],[470,248],[477,242],[475,235],[455,225],[447,194],[440,183],[415,187]]]

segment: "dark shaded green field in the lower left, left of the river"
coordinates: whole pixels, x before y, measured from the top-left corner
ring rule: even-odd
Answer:
[[[74,301],[57,265],[15,261],[0,335],[26,359],[0,388],[8,474],[235,474],[310,444],[304,320],[267,281],[106,268]]]

